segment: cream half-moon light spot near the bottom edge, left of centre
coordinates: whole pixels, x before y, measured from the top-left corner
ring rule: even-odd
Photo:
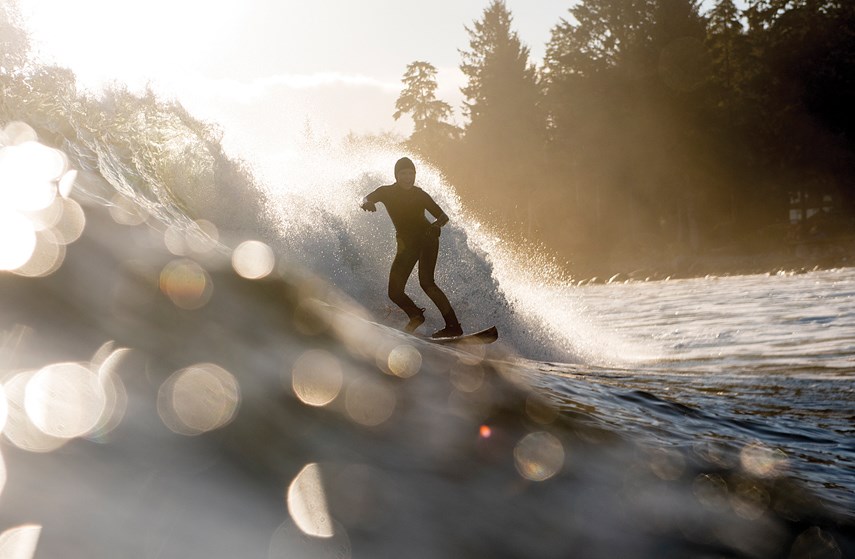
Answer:
[[[331,538],[335,535],[317,464],[308,464],[300,470],[288,487],[288,513],[308,536]]]

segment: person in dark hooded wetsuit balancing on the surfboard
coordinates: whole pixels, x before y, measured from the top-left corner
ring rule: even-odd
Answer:
[[[433,337],[459,336],[463,329],[457,315],[433,279],[439,254],[440,228],[448,223],[448,216],[427,192],[415,186],[415,182],[416,166],[409,158],[402,157],[395,163],[395,184],[381,186],[366,196],[362,200],[362,209],[377,211],[375,204],[381,202],[395,226],[398,250],[389,271],[389,298],[410,317],[404,330],[413,332],[425,321],[425,310],[417,307],[404,293],[407,280],[418,262],[419,285],[445,319],[445,328],[434,332]],[[425,217],[425,210],[436,221],[430,223]]]

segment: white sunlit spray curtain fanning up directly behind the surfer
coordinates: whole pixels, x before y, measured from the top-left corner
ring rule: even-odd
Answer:
[[[361,199],[393,182],[402,155],[417,166],[416,183],[450,217],[440,240],[436,279],[465,330],[496,325],[501,341],[531,359],[603,363],[621,360],[626,345],[599,328],[568,296],[561,271],[537,250],[520,253],[512,242],[473,219],[454,185],[413,154],[382,146],[303,145],[287,158],[267,161],[259,174],[266,201],[265,231],[277,253],[329,281],[380,322],[400,327],[404,314],[386,297],[395,254],[391,221],[382,205],[374,214]],[[407,293],[427,309],[428,332],[442,325],[413,273]]]

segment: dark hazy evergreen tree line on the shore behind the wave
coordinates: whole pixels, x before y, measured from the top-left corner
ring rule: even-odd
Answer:
[[[462,126],[425,61],[394,114],[479,217],[583,274],[851,245],[855,3],[581,0],[539,63],[512,24],[466,27]]]

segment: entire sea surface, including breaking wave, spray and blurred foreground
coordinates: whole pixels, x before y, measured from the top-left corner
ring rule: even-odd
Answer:
[[[578,286],[417,162],[438,282],[500,331],[438,346],[357,208],[395,150],[239,172],[148,109],[136,151],[77,129],[9,221],[0,556],[855,553],[855,270]]]

